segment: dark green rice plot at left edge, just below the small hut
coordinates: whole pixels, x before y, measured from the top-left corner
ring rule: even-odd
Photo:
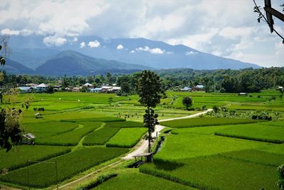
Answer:
[[[61,154],[66,154],[70,151],[71,149],[69,147],[39,145],[17,146],[13,147],[9,152],[6,152],[6,150],[2,149],[0,151],[0,170],[5,168],[11,171],[13,169],[25,167],[28,164],[27,160],[43,161]]]

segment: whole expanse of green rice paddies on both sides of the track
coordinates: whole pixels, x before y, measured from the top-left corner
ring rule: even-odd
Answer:
[[[194,110],[185,110],[185,96],[192,97]],[[28,110],[23,109],[21,102],[31,99]],[[0,149],[0,184],[7,186],[53,189],[57,183],[66,184],[123,157],[147,132],[145,107],[137,95],[65,92],[23,94],[11,100],[4,96],[7,106],[23,110],[21,125],[25,133],[35,135],[35,145],[15,146],[7,153]],[[155,112],[163,120],[215,105],[243,115],[273,112],[273,118],[207,115],[160,122],[171,131],[163,134],[153,162],[138,169],[114,168],[116,176],[93,189],[278,189],[276,169],[284,164],[284,100],[277,91],[248,96],[167,92]],[[38,111],[40,107],[44,111]],[[38,112],[42,118],[35,119]]]

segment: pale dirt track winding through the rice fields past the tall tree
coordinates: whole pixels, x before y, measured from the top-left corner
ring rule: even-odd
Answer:
[[[204,112],[199,112],[199,113],[196,113],[196,114],[193,114],[193,115],[189,115],[189,116],[185,116],[185,117],[170,118],[170,119],[165,119],[165,120],[159,120],[159,122],[165,122],[165,121],[171,121],[171,120],[181,120],[181,119],[191,118],[191,117],[198,117],[202,114],[205,114],[205,113],[211,112],[211,111],[212,111],[212,109],[208,109]],[[159,135],[160,131],[163,130],[164,128],[165,128],[165,126],[156,125],[155,126],[155,132],[152,133],[153,137],[156,137],[157,134]],[[58,189],[74,189],[75,186],[77,186],[77,184],[82,184],[83,182],[87,181],[88,179],[92,179],[94,176],[97,176],[97,174],[99,174],[101,171],[107,171],[108,169],[112,169],[112,168],[118,166],[119,164],[125,162],[126,160],[133,159],[134,155],[147,152],[147,150],[148,150],[148,141],[145,140],[145,139],[141,139],[141,141],[138,142],[136,147],[133,148],[133,151],[130,152],[129,154],[126,154],[126,156],[122,157],[122,159],[120,159],[119,161],[116,161],[112,164],[109,164],[105,167],[102,167],[101,169],[97,169],[95,171],[92,171],[91,173],[89,173],[85,176],[82,176],[79,179],[75,179],[74,181],[70,181],[67,184],[63,184],[62,186],[59,186]]]

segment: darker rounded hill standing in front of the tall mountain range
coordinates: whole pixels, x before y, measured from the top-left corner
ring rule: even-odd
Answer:
[[[35,69],[40,75],[95,75],[111,73],[133,73],[151,69],[144,65],[121,63],[116,60],[105,60],[84,56],[76,51],[62,51]]]

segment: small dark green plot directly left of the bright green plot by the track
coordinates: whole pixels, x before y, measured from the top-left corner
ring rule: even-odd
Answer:
[[[83,145],[103,145],[119,132],[119,128],[114,127],[103,127],[102,129],[95,130],[94,132],[89,133],[86,137],[84,137]]]

